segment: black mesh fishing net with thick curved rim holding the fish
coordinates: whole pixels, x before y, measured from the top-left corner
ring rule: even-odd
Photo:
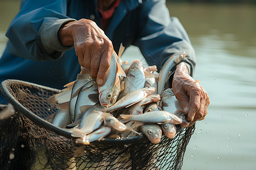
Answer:
[[[143,135],[75,143],[47,118],[57,111],[48,97],[59,90],[19,80],[5,80],[1,91],[15,114],[0,120],[0,164],[5,169],[181,169],[195,125],[173,139],[153,144]],[[0,105],[1,109],[6,105]]]

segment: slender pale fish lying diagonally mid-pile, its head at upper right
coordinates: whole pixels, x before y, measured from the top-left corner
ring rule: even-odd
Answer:
[[[133,91],[130,94],[123,96],[122,99],[118,100],[114,105],[112,105],[112,107],[105,109],[104,112],[113,112],[120,108],[130,107],[131,105],[143,100],[154,91],[154,87],[146,87]]]

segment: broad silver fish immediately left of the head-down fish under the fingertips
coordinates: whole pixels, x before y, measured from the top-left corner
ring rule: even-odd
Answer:
[[[96,80],[92,79],[89,80],[88,83],[82,86],[81,91],[77,96],[76,105],[75,105],[75,120],[81,118],[82,112],[80,107],[84,105],[89,105],[92,107],[94,104],[97,103],[98,100],[98,86],[96,84]]]

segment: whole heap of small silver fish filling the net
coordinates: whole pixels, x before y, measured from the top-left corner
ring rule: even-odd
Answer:
[[[105,137],[141,133],[152,143],[159,143],[162,131],[174,138],[175,125],[188,121],[174,93],[170,88],[164,90],[164,84],[171,68],[185,54],[168,59],[159,74],[156,66],[144,67],[139,59],[128,64],[118,56],[115,52],[112,55],[104,86],[97,86],[89,70],[81,67],[74,82],[49,97],[49,103],[58,108],[49,121],[71,132],[76,142],[84,145]]]

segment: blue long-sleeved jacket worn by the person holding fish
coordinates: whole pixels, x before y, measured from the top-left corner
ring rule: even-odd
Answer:
[[[0,82],[19,79],[62,89],[75,80],[80,72],[75,49],[62,46],[57,31],[81,18],[101,27],[96,0],[23,0],[6,32],[9,41],[0,58]],[[121,0],[105,34],[115,51],[121,42],[126,48],[138,46],[148,64],[158,70],[171,54],[185,51],[193,74],[195,52],[179,20],[170,18],[164,0]]]

